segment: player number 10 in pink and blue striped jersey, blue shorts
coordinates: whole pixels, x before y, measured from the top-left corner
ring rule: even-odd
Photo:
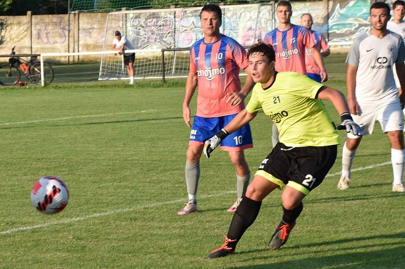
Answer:
[[[241,88],[239,69],[245,69],[249,74],[246,51],[238,42],[220,33],[221,19],[219,6],[204,6],[200,12],[204,38],[195,42],[190,50],[190,71],[183,101],[183,119],[188,127],[191,127],[189,104],[198,86],[197,112],[190,133],[185,169],[188,203],[178,212],[179,215],[198,211],[196,192],[204,143],[245,109],[244,99],[254,84],[248,75]],[[228,211],[236,211],[248,187],[250,172],[244,149],[251,147],[249,126],[221,141],[221,149],[229,152],[237,179],[238,198]]]

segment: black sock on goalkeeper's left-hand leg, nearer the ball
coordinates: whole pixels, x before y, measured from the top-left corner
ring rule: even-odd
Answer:
[[[236,241],[229,242],[228,247],[236,248],[237,242],[245,233],[246,229],[255,222],[261,205],[262,201],[258,202],[246,196],[242,199],[236,212],[233,214],[227,235],[229,239]]]

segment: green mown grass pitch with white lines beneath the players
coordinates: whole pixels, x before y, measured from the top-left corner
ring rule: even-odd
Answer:
[[[327,85],[342,91],[344,60],[326,58]],[[177,216],[187,200],[184,80],[131,87],[98,82],[90,69],[56,66],[48,87],[0,88],[0,267],[403,268],[405,196],[391,192],[390,145],[379,124],[357,150],[347,191],[336,188],[339,146],[285,246],[266,249],[282,216],[275,191],[237,254],[209,260],[232,218],[235,172],[226,152],[202,158],[201,211]],[[260,113],[251,127],[255,147],[246,157],[254,174],[271,149],[271,122]],[[63,178],[70,191],[66,209],[53,216],[36,211],[29,197],[46,175]]]

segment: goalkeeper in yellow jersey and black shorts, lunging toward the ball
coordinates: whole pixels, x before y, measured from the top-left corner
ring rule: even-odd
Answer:
[[[275,72],[274,54],[273,47],[265,43],[250,47],[249,67],[256,82],[252,97],[245,110],[205,143],[204,154],[209,157],[222,139],[253,120],[259,110],[271,118],[280,132],[280,141],[259,166],[233,215],[225,243],[209,258],[233,254],[246,229],[256,220],[262,200],[284,186],[284,215],[268,247],[277,249],[287,242],[302,211],[302,199],[322,182],[336,160],[338,133],[320,99],[332,101],[341,115],[343,122],[338,129],[362,135],[340,91],[295,72]]]

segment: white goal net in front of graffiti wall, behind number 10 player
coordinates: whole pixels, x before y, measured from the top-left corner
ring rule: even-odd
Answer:
[[[114,11],[107,15],[103,50],[111,47],[114,31],[127,38],[135,53],[135,79],[161,76],[184,77],[188,74],[189,48],[200,38],[201,7]],[[273,29],[273,5],[249,4],[222,7],[220,32],[250,46]],[[153,51],[160,49],[160,52]],[[126,79],[123,57],[103,55],[100,79]]]

